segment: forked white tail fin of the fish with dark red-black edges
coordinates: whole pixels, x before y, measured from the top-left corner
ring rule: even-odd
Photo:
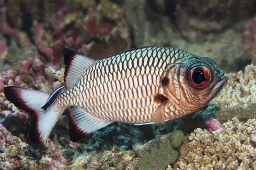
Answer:
[[[33,115],[29,138],[32,142],[44,145],[44,141],[48,138],[63,112],[63,110],[57,109],[55,103],[49,106],[46,111],[42,109],[51,94],[15,86],[5,87],[4,94],[6,99],[17,108]]]

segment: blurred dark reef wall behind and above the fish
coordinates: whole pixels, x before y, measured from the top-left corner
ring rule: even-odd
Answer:
[[[43,63],[60,68],[64,46],[99,59],[129,48],[157,45],[211,57],[228,72],[255,63],[252,7],[256,3],[251,0],[30,3],[1,2],[1,59],[7,59],[6,48],[8,51],[10,45],[34,45]],[[100,54],[95,52],[99,48]]]

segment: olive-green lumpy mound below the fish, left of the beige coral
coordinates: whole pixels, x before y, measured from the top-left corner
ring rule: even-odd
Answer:
[[[136,163],[138,170],[163,170],[176,161],[179,147],[185,136],[180,130],[175,130],[160,136],[145,144],[135,144],[134,150],[140,157]]]

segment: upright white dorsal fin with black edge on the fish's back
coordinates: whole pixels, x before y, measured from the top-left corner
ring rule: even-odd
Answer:
[[[75,85],[76,80],[79,78],[84,68],[95,61],[89,57],[77,54],[68,48],[63,48],[63,56],[65,63],[64,82],[67,88]]]

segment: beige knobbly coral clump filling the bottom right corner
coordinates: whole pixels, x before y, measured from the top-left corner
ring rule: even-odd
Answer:
[[[256,119],[223,124],[210,133],[198,128],[180,147],[178,161],[166,170],[253,170],[256,168]]]

